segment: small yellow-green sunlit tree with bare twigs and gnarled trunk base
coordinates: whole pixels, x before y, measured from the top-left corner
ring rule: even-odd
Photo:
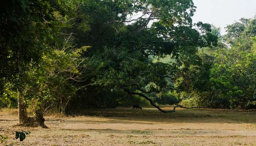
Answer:
[[[86,72],[86,58],[81,57],[81,52],[87,47],[73,47],[72,35],[65,40],[63,49],[55,48],[43,54],[38,66],[26,71],[19,82],[23,84],[20,89],[23,100],[34,107],[35,118],[24,119],[25,125],[47,128],[44,124],[45,111],[49,108],[54,112],[64,113],[69,100],[82,88],[78,82],[84,80],[82,73]],[[23,112],[26,114],[26,110]]]

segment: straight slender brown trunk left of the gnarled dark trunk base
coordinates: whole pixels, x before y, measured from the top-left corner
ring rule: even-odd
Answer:
[[[18,111],[19,111],[19,124],[23,124],[26,121],[26,112],[25,112],[25,106],[23,103],[23,95],[21,92],[18,91]]]

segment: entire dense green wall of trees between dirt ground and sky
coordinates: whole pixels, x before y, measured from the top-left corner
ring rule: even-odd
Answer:
[[[192,23],[195,11],[192,0],[3,0],[0,107],[42,127],[45,112],[83,108],[256,108],[256,18],[222,36]]]

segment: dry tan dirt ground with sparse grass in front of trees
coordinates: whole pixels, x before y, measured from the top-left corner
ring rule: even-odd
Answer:
[[[164,109],[171,109],[164,106]],[[256,111],[155,108],[84,110],[70,117],[45,116],[49,127],[19,127],[17,109],[0,111],[0,130],[31,131],[23,142],[14,134],[2,145],[18,146],[256,146]],[[0,144],[1,145],[1,144]]]

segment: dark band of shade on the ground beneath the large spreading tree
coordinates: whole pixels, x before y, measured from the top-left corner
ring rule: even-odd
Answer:
[[[165,109],[165,110],[170,110]],[[162,113],[154,108],[132,110],[131,108],[84,109],[72,114],[73,116],[97,116],[109,118],[104,123],[254,123],[256,124],[255,110],[220,110],[220,109],[178,109],[173,113]],[[78,122],[78,121],[72,121]],[[81,121],[80,121],[81,122]],[[99,121],[87,120],[88,123]]]

